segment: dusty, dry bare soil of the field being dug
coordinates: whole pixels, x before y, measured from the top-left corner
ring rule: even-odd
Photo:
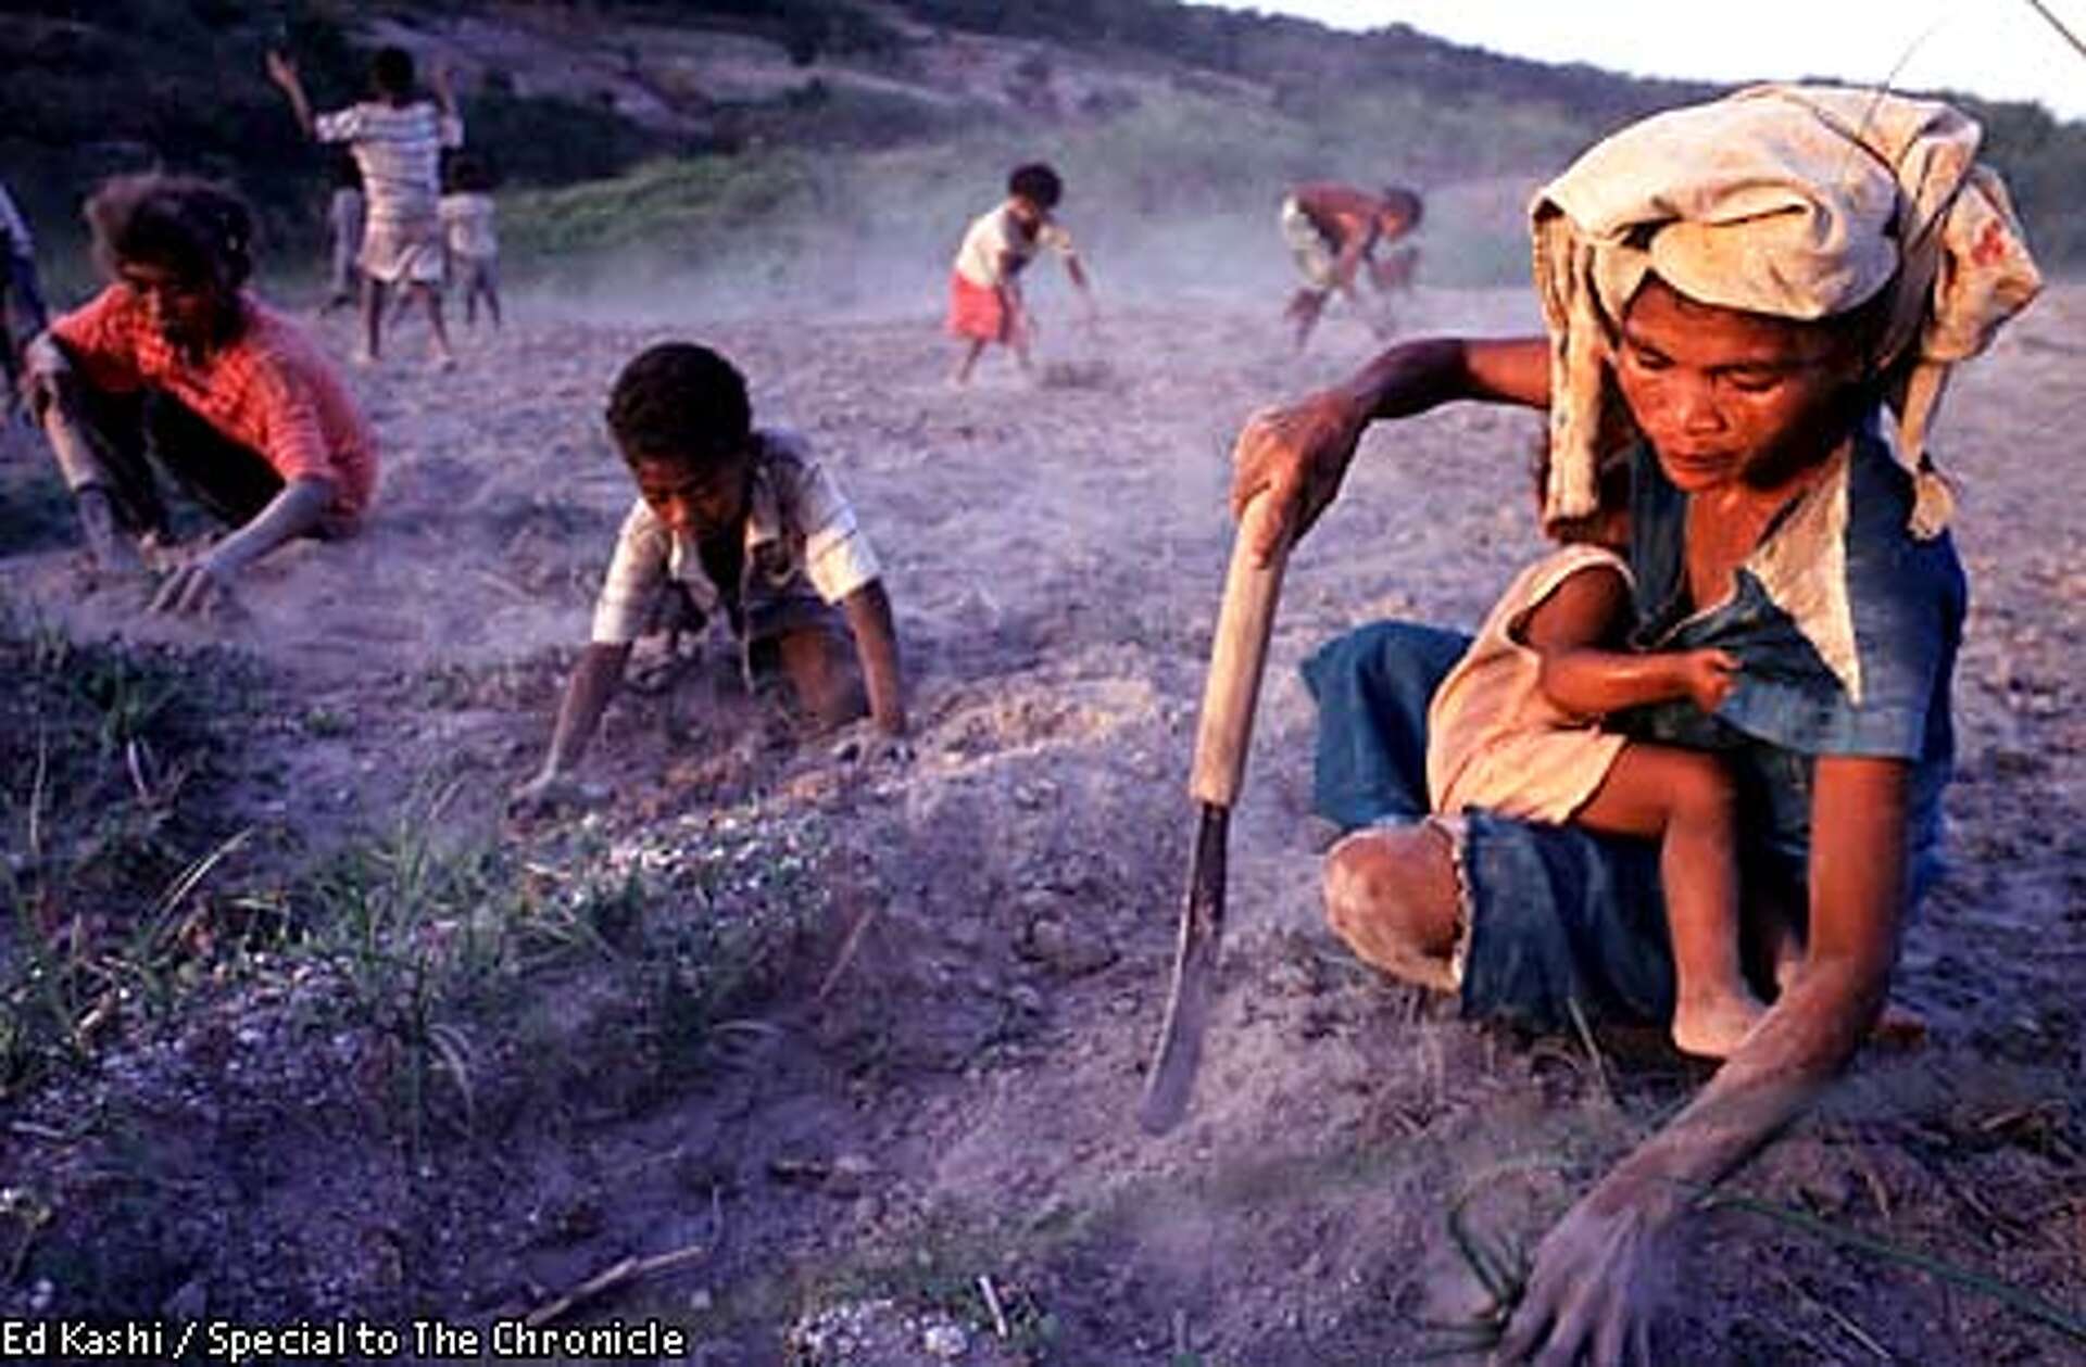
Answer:
[[[1450,1204],[1471,1194],[1477,1225],[1533,1242],[1698,1075],[1656,1050],[1610,1052],[1604,1071],[1575,1040],[1464,1025],[1320,927],[1295,661],[1377,615],[1473,623],[1535,550],[1531,419],[1454,408],[1377,429],[1295,556],[1233,827],[1235,934],[1197,1109],[1166,1140],[1137,1134],[1229,438],[1368,348],[1335,319],[1291,361],[1266,304],[1129,306],[1051,333],[1051,375],[1070,383],[1028,388],[997,361],[964,394],[943,386],[924,313],[703,327],[524,302],[446,377],[417,367],[409,329],[357,377],[386,444],[371,533],[257,571],[250,615],[213,633],[138,625],[113,592],[69,606],[60,538],[10,521],[17,608],[81,638],[215,638],[250,661],[236,702],[250,721],[223,738],[207,792],[221,829],[257,836],[209,888],[373,840],[396,850],[401,823],[553,890],[603,867],[653,881],[624,921],[592,904],[592,956],[501,979],[490,1002],[436,1002],[417,1034],[342,1006],[338,977],[265,971],[198,988],[173,1023],[125,1019],[96,1063],[6,1102],[0,1307],[484,1325],[620,1259],[697,1246],[574,1319],[665,1317],[713,1365],[1318,1367],[1437,1346],[1425,1323],[1481,1300]],[[1517,294],[1431,292],[1412,321],[1531,319]],[[857,502],[899,606],[918,756],[828,763],[705,665],[611,713],[588,761],[611,804],[515,827],[501,796],[547,738],[630,496],[597,415],[620,361],[665,335],[726,348],[757,413],[805,431]],[[2059,290],[1959,381],[1938,444],[1967,486],[1975,617],[1957,677],[1959,867],[1900,975],[1930,1044],[1865,1057],[1738,1184],[2071,1315],[2086,1300],[2082,361],[2086,294]],[[8,444],[8,500],[48,511],[27,438]],[[761,971],[682,1025],[659,1004],[678,998],[622,996],[645,967],[632,959],[741,902],[786,902]],[[1677,1275],[1663,1361],[2080,1348],[1756,1215],[1704,1217]]]

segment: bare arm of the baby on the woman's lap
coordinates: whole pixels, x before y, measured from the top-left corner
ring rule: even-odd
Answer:
[[[1731,692],[1738,658],[1723,650],[1610,650],[1629,623],[1629,583],[1612,569],[1583,569],[1523,619],[1521,640],[1544,665],[1544,696],[1581,717],[1694,698],[1704,713]]]

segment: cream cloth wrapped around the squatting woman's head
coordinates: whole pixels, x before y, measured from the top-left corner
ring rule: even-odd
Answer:
[[[1913,529],[1948,521],[1925,433],[1948,367],[2042,288],[1980,127],[1875,90],[1756,85],[1596,144],[1531,206],[1550,329],[1544,519],[1594,511],[1612,327],[1646,275],[1702,304],[1784,319],[1850,313],[1888,290],[1882,346]]]

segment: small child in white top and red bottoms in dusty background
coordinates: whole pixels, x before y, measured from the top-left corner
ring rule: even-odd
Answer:
[[[1020,275],[1041,248],[1064,258],[1064,273],[1087,300],[1093,317],[1093,292],[1087,271],[1072,250],[1072,233],[1051,213],[1064,198],[1064,181],[1043,163],[1016,167],[1008,177],[1008,198],[972,219],[964,244],[949,269],[949,333],[964,340],[953,383],[970,381],[972,367],[993,342],[1014,348],[1014,358],[1028,369],[1028,346],[1035,340],[1035,317],[1022,300]]]

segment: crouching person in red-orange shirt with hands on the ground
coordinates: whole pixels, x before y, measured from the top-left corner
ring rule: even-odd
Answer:
[[[353,533],[378,446],[317,344],[244,290],[252,217],[229,190],[127,175],[88,200],[113,283],[29,346],[29,400],[96,561],[142,569],[169,544],[156,463],[232,533],[188,556],[152,606],[200,611],[300,536]]]

